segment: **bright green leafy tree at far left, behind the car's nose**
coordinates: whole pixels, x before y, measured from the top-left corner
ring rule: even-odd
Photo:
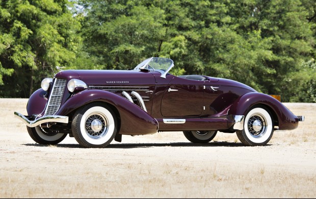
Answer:
[[[80,23],[69,6],[66,0],[0,1],[0,96],[29,97],[55,66],[71,66]]]

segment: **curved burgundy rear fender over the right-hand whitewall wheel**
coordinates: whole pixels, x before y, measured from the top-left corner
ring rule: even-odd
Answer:
[[[254,105],[265,105],[270,111],[273,111],[275,120],[278,120],[279,130],[293,130],[298,127],[299,119],[290,110],[288,110],[282,103],[270,95],[250,92],[240,96],[231,105],[228,114],[245,115],[249,109]]]

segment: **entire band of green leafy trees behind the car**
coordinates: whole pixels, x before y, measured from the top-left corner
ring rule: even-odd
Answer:
[[[315,10],[314,0],[0,1],[0,96],[28,97],[57,65],[127,69],[166,57],[176,75],[315,102]]]

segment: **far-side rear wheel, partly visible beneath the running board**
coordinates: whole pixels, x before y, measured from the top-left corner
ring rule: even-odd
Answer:
[[[186,138],[193,143],[207,143],[213,140],[217,131],[183,131]]]

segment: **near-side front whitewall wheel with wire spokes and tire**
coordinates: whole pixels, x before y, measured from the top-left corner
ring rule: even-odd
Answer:
[[[116,116],[104,104],[89,104],[75,112],[71,129],[80,145],[88,148],[106,147],[116,135]]]

